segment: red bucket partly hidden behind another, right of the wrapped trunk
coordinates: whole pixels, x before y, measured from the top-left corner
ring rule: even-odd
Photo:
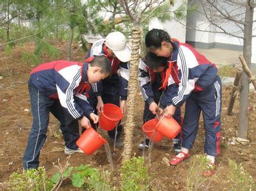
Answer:
[[[151,119],[145,122],[142,126],[142,131],[144,131],[148,138],[150,138],[150,140],[153,140],[153,142],[159,142],[162,140],[162,138],[164,138],[164,135],[162,135],[162,133],[155,131],[157,123],[158,119]]]

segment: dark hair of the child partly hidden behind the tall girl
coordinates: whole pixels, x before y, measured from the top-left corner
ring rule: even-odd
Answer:
[[[168,58],[163,56],[157,56],[154,53],[148,52],[144,57],[144,62],[151,69],[158,69],[158,67],[166,66]]]

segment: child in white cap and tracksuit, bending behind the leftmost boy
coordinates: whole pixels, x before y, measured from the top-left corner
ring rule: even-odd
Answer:
[[[99,83],[92,83],[92,90],[96,94],[97,100],[90,96],[90,104],[99,113],[103,112],[103,104],[112,103],[120,106],[122,112],[126,110],[126,99],[128,93],[129,61],[131,57],[130,49],[126,45],[126,38],[123,33],[116,31],[109,33],[106,38],[97,40],[92,44],[88,56],[103,55],[111,62],[112,75]],[[118,72],[117,72],[118,71]],[[116,145],[122,146],[120,140],[123,126],[117,126]],[[115,129],[108,131],[108,136],[114,140]]]

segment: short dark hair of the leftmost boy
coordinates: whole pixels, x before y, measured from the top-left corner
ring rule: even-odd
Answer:
[[[101,68],[101,73],[108,73],[111,75],[112,67],[110,60],[106,58],[106,56],[94,56],[94,59],[92,59],[89,62],[90,66],[96,66]]]

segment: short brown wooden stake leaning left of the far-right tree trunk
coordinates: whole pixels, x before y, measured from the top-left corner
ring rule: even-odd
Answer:
[[[237,74],[235,76],[235,80],[234,80],[234,83],[233,83],[233,86],[232,86],[232,90],[231,90],[231,93],[230,93],[230,99],[229,99],[228,110],[226,111],[226,115],[231,115],[232,114],[233,106],[234,106],[234,103],[235,103],[236,92],[239,91],[239,83],[240,83],[240,80],[241,80],[241,74],[242,74],[241,70],[237,71]]]

